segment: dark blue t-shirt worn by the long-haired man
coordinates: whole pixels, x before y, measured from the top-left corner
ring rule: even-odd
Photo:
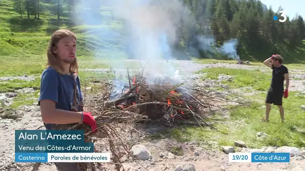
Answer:
[[[76,88],[75,88],[76,81]],[[76,94],[75,94],[76,90]],[[54,68],[48,67],[45,69],[41,76],[40,84],[40,97],[38,103],[42,99],[50,99],[56,102],[56,108],[72,111],[72,106],[75,106],[76,95],[76,108],[81,110],[80,102],[83,100],[80,81],[77,76],[74,79],[73,75],[60,74]],[[52,124],[46,124],[46,128],[50,129]]]

